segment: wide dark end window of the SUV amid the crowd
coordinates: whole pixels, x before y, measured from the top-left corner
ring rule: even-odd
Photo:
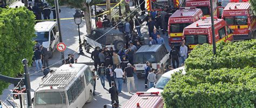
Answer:
[[[137,53],[135,55],[135,63],[146,63],[146,61],[149,61],[151,63],[156,63],[157,62],[157,58],[156,58],[156,54],[155,53],[147,53],[147,52],[143,52],[143,53]]]

